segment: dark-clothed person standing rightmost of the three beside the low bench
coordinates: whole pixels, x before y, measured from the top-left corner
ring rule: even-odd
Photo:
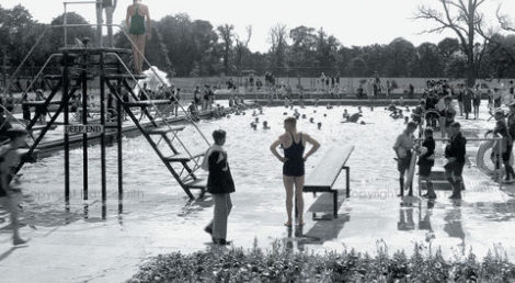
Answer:
[[[453,188],[453,194],[449,199],[461,200],[461,173],[465,166],[465,155],[467,154],[467,139],[461,135],[461,125],[458,122],[450,124],[450,140],[445,147],[445,158],[447,163],[445,168],[445,177]]]

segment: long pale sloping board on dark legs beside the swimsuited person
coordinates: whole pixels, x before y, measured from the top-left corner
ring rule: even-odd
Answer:
[[[333,215],[337,218],[337,193],[333,185],[342,170],[346,172],[346,197],[351,197],[351,168],[346,166],[354,151],[354,146],[333,146],[314,170],[308,176],[304,185],[304,192],[329,192],[333,194]]]

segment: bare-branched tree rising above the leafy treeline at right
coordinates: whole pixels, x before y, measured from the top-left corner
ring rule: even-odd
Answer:
[[[467,84],[472,87],[477,78],[477,65],[480,57],[474,55],[474,39],[481,30],[483,14],[481,4],[485,0],[434,0],[440,4],[440,10],[428,7],[420,7],[415,19],[430,20],[438,24],[437,27],[425,31],[427,33],[440,33],[450,30],[458,36],[461,50],[467,57],[466,75]],[[484,45],[483,45],[484,46]]]

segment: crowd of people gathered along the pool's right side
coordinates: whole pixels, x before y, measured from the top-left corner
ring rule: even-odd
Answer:
[[[504,166],[504,182],[512,183],[515,181],[515,172],[511,166],[513,136],[515,135],[515,97],[513,81],[510,82],[508,95],[503,95],[501,89],[487,91],[489,98],[489,110],[493,118],[495,118],[495,127],[487,134],[492,134],[499,138],[492,146],[490,159],[495,166],[495,173],[492,179],[501,181],[501,165]],[[427,81],[427,88],[424,91],[423,99],[420,104],[412,111],[411,121],[408,116],[402,115],[402,109],[397,103],[391,103],[387,109],[391,111],[393,118],[405,118],[407,128],[398,136],[393,150],[398,162],[400,173],[399,184],[400,194],[404,195],[404,190],[409,190],[412,195],[412,183],[405,181],[407,173],[413,168],[412,155],[419,155],[419,174],[426,184],[427,193],[424,195],[428,199],[436,199],[436,194],[431,182],[431,168],[434,166],[435,159],[435,140],[433,134],[438,129],[442,138],[447,139],[444,157],[445,177],[447,178],[453,193],[450,199],[461,199],[462,170],[466,162],[466,145],[467,138],[461,133],[460,123],[455,118],[459,114],[469,120],[469,114],[473,115],[473,120],[479,118],[479,105],[481,104],[481,95],[483,92],[480,86],[474,88],[457,84],[451,87],[445,80]],[[459,111],[455,109],[453,101],[456,99]],[[501,109],[502,102],[510,107],[510,113],[505,113]],[[409,107],[405,109],[409,112]],[[470,116],[472,117],[472,116]],[[419,129],[422,143],[415,143],[413,133]],[[500,144],[497,144],[500,143]],[[411,174],[413,172],[410,172]],[[408,176],[409,178],[409,176]]]

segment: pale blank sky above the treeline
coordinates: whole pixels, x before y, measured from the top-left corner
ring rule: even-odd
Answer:
[[[35,20],[49,23],[62,13],[64,0],[1,0],[3,8],[22,4]],[[67,0],[72,1],[72,0]],[[467,1],[467,0],[465,0]],[[114,22],[125,20],[126,7],[131,0],[118,0]],[[397,37],[404,37],[413,44],[437,43],[453,32],[421,34],[435,27],[433,22],[414,21],[413,15],[421,4],[439,8],[437,0],[142,0],[149,5],[150,15],[159,20],[169,14],[187,13],[193,20],[207,20],[213,25],[233,24],[237,34],[245,36],[245,26],[252,25],[249,47],[253,52],[270,48],[270,29],[278,23],[288,29],[299,25],[323,27],[345,46],[388,44]],[[502,12],[512,15],[515,23],[514,0],[487,0],[482,11],[488,24],[496,26],[495,10],[502,4]],[[78,12],[89,22],[95,23],[92,4],[70,5],[69,11]]]

